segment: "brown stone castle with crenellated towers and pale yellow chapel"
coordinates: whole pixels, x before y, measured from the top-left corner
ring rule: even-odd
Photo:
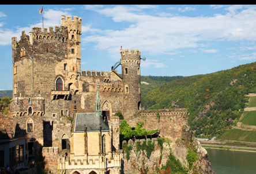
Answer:
[[[116,113],[135,127],[146,119],[154,122],[156,113],[167,122],[177,115],[187,122],[187,110],[142,110],[138,49],[121,48],[122,75],[81,71],[81,34],[81,18],[62,16],[55,30],[35,27],[28,35],[22,32],[20,41],[12,38],[10,115],[15,123],[9,134],[25,137],[23,161],[44,159],[44,169],[51,173],[120,173]],[[146,129],[161,126],[168,127],[145,123]]]

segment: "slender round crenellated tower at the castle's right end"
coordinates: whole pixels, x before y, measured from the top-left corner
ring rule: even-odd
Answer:
[[[123,75],[123,115],[133,116],[141,109],[141,52],[136,49],[121,48],[121,65]]]

